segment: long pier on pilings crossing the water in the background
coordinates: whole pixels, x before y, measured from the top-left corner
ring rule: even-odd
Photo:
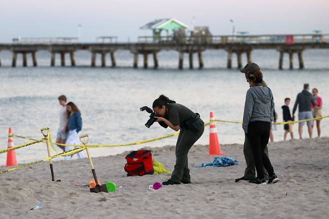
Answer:
[[[30,54],[33,66],[37,66],[36,52],[50,52],[50,66],[55,66],[55,55],[60,55],[60,65],[65,66],[65,55],[70,56],[70,65],[76,66],[74,52],[88,50],[91,53],[90,66],[96,67],[96,56],[100,54],[101,67],[106,66],[106,54],[110,55],[111,67],[116,66],[115,52],[128,50],[133,54],[132,67],[138,67],[138,57],[143,58],[144,68],[149,67],[148,55],[153,57],[153,68],[160,64],[157,53],[161,50],[177,51],[178,68],[183,69],[184,55],[188,55],[189,68],[193,68],[193,55],[198,57],[198,68],[203,68],[202,52],[208,49],[222,49],[227,52],[227,68],[232,68],[232,57],[236,54],[237,68],[242,67],[241,55],[246,54],[247,62],[252,62],[255,49],[278,51],[278,68],[282,69],[283,56],[288,54],[289,68],[293,69],[293,55],[298,56],[299,68],[304,67],[302,53],[306,49],[329,49],[329,34],[271,34],[271,35],[211,35],[184,36],[139,36],[136,42],[117,42],[115,36],[100,36],[94,43],[81,43],[77,37],[56,38],[15,38],[12,43],[0,43],[1,50],[12,52],[11,66],[17,65],[17,54],[22,54],[22,66],[27,66]],[[0,60],[1,65],[1,60]]]

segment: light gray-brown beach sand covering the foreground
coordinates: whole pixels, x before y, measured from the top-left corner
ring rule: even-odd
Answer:
[[[268,148],[280,178],[276,184],[234,182],[245,168],[241,144],[221,145],[240,164],[191,167],[192,184],[156,191],[148,185],[169,174],[127,177],[123,166],[128,152],[93,158],[100,180],[117,185],[111,193],[72,187],[92,177],[86,158],[54,159],[55,179],[61,182],[51,181],[48,162],[37,163],[0,175],[0,218],[329,218],[329,138],[274,142]],[[151,150],[172,170],[174,146]],[[207,145],[193,146],[189,164],[211,162],[214,156],[206,156],[207,150]],[[40,201],[41,209],[29,210]]]

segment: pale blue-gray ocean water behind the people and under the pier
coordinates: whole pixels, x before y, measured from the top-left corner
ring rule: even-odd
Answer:
[[[224,51],[206,51],[203,54],[204,69],[197,69],[197,57],[194,57],[195,69],[188,69],[185,55],[183,70],[178,70],[178,53],[163,51],[158,55],[159,69],[133,69],[132,54],[127,51],[116,52],[118,67],[111,68],[110,58],[106,56],[108,67],[89,67],[90,54],[76,52],[76,67],[49,67],[50,54],[47,51],[37,53],[38,67],[21,67],[18,56],[17,67],[10,67],[11,53],[0,52],[0,148],[7,146],[8,127],[13,132],[34,138],[41,138],[40,128],[49,127],[53,140],[58,128],[59,104],[57,96],[65,94],[68,101],[73,101],[81,110],[83,127],[81,133],[88,133],[90,144],[116,144],[134,142],[170,134],[173,130],[164,129],[158,124],[146,128],[146,112],[139,107],[151,106],[159,94],[188,106],[200,113],[202,119],[209,119],[213,111],[216,119],[240,121],[242,119],[245,92],[248,83],[236,68],[226,69]],[[296,69],[288,70],[288,58],[284,57],[284,70],[278,70],[278,52],[256,50],[252,53],[253,61],[263,71],[264,80],[272,89],[275,111],[278,121],[282,120],[281,105],[285,97],[291,98],[292,110],[295,97],[302,90],[303,83],[319,90],[323,99],[323,115],[329,114],[329,50],[307,50],[304,52],[305,69],[297,69],[297,57],[294,57]],[[100,57],[97,57],[100,65]],[[233,66],[236,58],[233,56]],[[243,64],[246,58],[243,56]],[[56,64],[59,65],[59,57]],[[69,64],[69,57],[66,57]],[[142,58],[139,57],[139,66]],[[243,143],[241,125],[216,123],[220,143]],[[329,135],[329,118],[321,121],[322,136]],[[297,125],[293,125],[294,136],[298,137]],[[209,129],[197,141],[207,144]],[[283,126],[278,125],[273,131],[274,140],[283,139]],[[304,127],[304,137],[307,137]],[[316,136],[316,131],[313,136]],[[91,148],[92,156],[116,154],[142,146],[174,145],[176,136],[139,146]],[[14,138],[15,145],[28,142]],[[229,145],[228,145],[229,146]],[[225,151],[225,147],[221,148]],[[60,149],[57,149],[60,151]],[[241,151],[242,152],[242,151]],[[54,153],[54,151],[52,151]],[[24,163],[47,157],[44,143],[34,144],[16,150],[17,161]],[[4,164],[5,153],[0,154],[0,164]],[[56,158],[61,159],[61,157]]]

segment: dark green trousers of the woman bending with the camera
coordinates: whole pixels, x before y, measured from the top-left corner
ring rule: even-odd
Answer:
[[[171,181],[180,183],[181,180],[190,180],[187,153],[195,141],[200,138],[204,131],[204,125],[200,125],[198,132],[180,129],[176,143],[176,164],[171,173]]]

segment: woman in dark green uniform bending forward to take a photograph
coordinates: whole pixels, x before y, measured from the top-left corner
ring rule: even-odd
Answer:
[[[163,185],[188,184],[191,183],[187,153],[197,139],[203,133],[204,122],[198,113],[192,112],[186,106],[176,103],[165,95],[160,95],[153,101],[153,111],[159,116],[155,117],[157,122],[163,127],[170,127],[178,131],[180,129],[176,143],[176,164],[170,179],[163,181]]]

